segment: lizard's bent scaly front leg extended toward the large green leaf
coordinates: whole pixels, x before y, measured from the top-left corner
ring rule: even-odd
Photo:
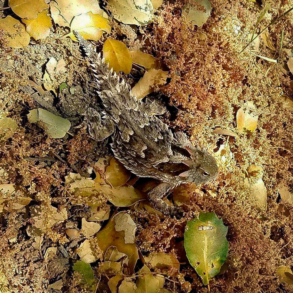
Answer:
[[[170,215],[172,217],[175,216],[176,218],[180,219],[183,214],[183,209],[181,209],[181,207],[168,205],[162,200],[162,197],[177,185],[177,183],[172,184],[170,182],[163,182],[148,193],[148,198],[154,207],[163,214]]]

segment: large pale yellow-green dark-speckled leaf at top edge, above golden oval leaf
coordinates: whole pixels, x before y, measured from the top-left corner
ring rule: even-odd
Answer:
[[[148,0],[109,0],[107,8],[125,24],[147,25],[154,19],[154,7]]]

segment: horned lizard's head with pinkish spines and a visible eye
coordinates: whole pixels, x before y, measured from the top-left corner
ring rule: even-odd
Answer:
[[[217,177],[218,166],[214,157],[207,151],[201,151],[192,144],[185,147],[190,158],[184,161],[189,169],[179,176],[187,182],[194,182],[196,185],[212,181]]]

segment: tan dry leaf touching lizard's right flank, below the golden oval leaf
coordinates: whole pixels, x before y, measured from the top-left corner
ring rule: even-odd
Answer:
[[[144,76],[132,88],[132,95],[136,96],[137,100],[144,98],[153,92],[156,86],[166,83],[167,74],[167,71],[162,71],[161,69],[150,69],[146,71]]]

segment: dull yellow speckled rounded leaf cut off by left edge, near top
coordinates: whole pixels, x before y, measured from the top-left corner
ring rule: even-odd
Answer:
[[[12,48],[23,48],[30,42],[30,35],[25,31],[24,25],[11,16],[0,19],[0,30],[7,33],[4,39]]]

